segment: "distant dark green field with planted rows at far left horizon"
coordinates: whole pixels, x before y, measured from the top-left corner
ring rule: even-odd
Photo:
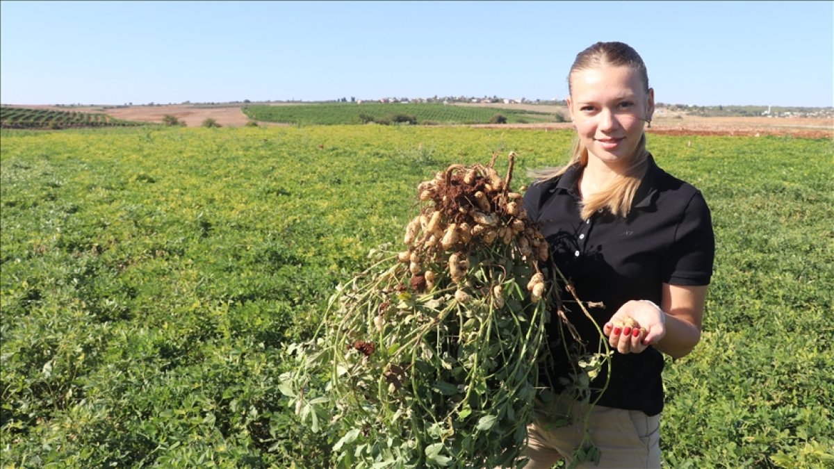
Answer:
[[[137,125],[143,124],[114,119],[103,113],[7,106],[0,108],[0,127],[3,129],[78,129],[83,127],[132,127]]]

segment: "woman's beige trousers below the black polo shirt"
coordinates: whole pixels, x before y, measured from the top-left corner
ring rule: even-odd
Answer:
[[[581,421],[585,404],[557,399],[553,413],[528,427],[526,469],[550,469],[560,459],[570,464],[580,446],[585,426]],[[570,423],[565,424],[565,419]],[[605,406],[590,410],[590,441],[600,450],[600,465],[582,462],[579,467],[660,467],[661,416],[646,416],[641,411],[625,411]]]

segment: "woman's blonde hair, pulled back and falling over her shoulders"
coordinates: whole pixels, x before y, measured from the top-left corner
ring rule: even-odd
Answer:
[[[642,84],[649,90],[649,78],[646,73],[646,64],[640,55],[630,46],[624,43],[595,43],[576,55],[573,65],[568,73],[568,90],[570,91],[570,77],[573,73],[587,68],[593,68],[600,64],[609,64],[615,67],[628,67],[638,73]],[[608,209],[615,216],[625,217],[631,210],[631,203],[634,194],[640,186],[643,174],[649,165],[649,152],[646,150],[646,134],[640,139],[634,154],[627,160],[629,166],[622,174],[617,174],[608,184],[605,184],[595,194],[584,197],[581,202],[580,215],[582,219],[589,219],[595,211]],[[529,172],[536,183],[559,177],[570,169],[571,166],[579,164],[585,168],[588,164],[588,149],[581,144],[579,137],[574,139],[570,161],[562,167],[535,169]]]

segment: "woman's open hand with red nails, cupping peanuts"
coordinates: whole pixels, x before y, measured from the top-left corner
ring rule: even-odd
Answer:
[[[626,317],[634,319],[636,325],[615,325]],[[666,317],[660,308],[649,301],[630,300],[620,306],[603,325],[602,332],[608,335],[611,348],[620,353],[641,353],[666,335]]]

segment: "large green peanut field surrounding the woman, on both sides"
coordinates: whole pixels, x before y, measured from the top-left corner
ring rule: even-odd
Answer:
[[[314,432],[287,408],[285,346],[310,337],[369,250],[399,249],[420,181],[512,150],[526,184],[572,139],[383,125],[0,136],[3,467],[329,466],[345,429]],[[834,143],[650,134],[649,147],[702,190],[716,229],[701,344],[667,361],[666,464],[834,466]]]

